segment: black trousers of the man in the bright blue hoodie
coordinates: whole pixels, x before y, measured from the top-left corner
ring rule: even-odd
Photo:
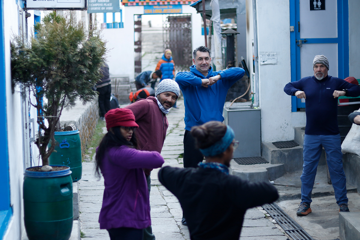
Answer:
[[[198,167],[198,163],[202,162],[204,155],[196,147],[195,139],[190,131],[185,130],[184,133],[184,168]]]

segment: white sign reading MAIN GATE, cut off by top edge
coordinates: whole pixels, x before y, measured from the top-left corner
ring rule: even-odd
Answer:
[[[86,0],[26,0],[25,9],[86,10]]]

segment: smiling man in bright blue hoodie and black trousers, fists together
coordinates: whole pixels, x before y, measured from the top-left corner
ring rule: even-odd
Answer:
[[[242,68],[213,72],[210,54],[207,47],[197,47],[193,52],[194,65],[190,67],[190,72],[179,72],[175,78],[185,104],[184,167],[197,167],[204,159],[200,150],[195,148],[191,128],[208,121],[224,121],[222,111],[226,94],[245,73]],[[185,219],[182,222],[186,224]]]

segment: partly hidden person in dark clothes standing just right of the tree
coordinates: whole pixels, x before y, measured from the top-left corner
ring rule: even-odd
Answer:
[[[99,114],[105,120],[105,114],[110,110],[111,79],[109,75],[109,65],[104,63],[100,68],[103,77],[96,83],[96,91],[99,92]]]

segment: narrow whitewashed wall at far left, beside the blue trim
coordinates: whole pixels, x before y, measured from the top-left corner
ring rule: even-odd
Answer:
[[[12,94],[10,73],[10,36],[17,35],[19,7],[15,1],[4,1],[4,35],[5,35],[5,71],[6,71],[6,115],[9,154],[10,204],[13,216],[5,232],[4,240],[21,239],[23,228],[22,180],[23,180],[23,145],[21,98],[18,92]],[[24,13],[24,12],[23,12]],[[28,18],[31,21],[31,18]],[[33,18],[32,18],[33,21]]]

